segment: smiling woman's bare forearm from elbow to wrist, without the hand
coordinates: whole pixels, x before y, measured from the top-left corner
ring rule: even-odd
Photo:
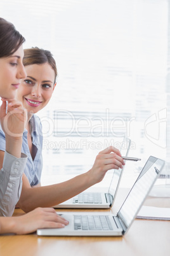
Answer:
[[[22,194],[17,206],[23,211],[29,212],[37,207],[51,207],[60,204],[91,187],[93,182],[89,175],[90,173],[87,172],[68,181],[44,187],[25,188],[23,182]]]

